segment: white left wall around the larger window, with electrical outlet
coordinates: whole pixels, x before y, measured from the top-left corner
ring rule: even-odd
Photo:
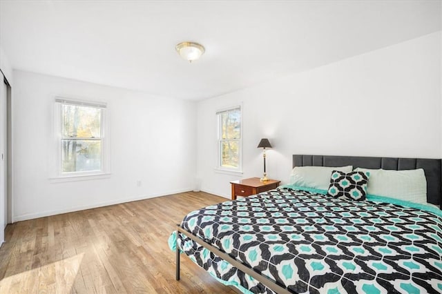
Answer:
[[[14,221],[192,190],[195,102],[22,71],[14,81]],[[50,181],[56,95],[108,104],[110,178]]]

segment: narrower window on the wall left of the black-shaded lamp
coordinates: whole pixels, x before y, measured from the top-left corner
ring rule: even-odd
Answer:
[[[240,106],[216,112],[218,116],[218,168],[242,170]]]

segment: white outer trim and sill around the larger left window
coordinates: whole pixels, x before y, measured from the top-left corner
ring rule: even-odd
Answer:
[[[63,173],[61,172],[61,104],[73,104],[78,106],[90,106],[101,108],[101,140],[102,140],[102,169],[86,172],[73,172]],[[88,179],[102,179],[110,177],[111,164],[110,164],[110,148],[109,148],[109,124],[108,124],[108,109],[106,103],[96,101],[84,101],[79,99],[70,99],[65,97],[55,97],[55,109],[54,109],[54,131],[55,131],[55,172],[50,177],[50,182],[71,182],[81,181]]]

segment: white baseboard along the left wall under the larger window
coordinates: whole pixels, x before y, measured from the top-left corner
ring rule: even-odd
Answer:
[[[124,198],[124,199],[115,199],[115,200],[108,201],[108,202],[100,202],[100,203],[97,203],[97,204],[90,204],[90,205],[84,205],[84,206],[76,206],[76,207],[73,207],[73,208],[66,208],[66,209],[60,209],[60,210],[49,210],[49,211],[44,211],[42,213],[28,213],[26,215],[13,216],[12,217],[12,222],[13,223],[14,222],[21,222],[23,220],[37,219],[39,217],[48,217],[50,215],[61,215],[62,213],[73,213],[74,211],[79,211],[79,210],[86,210],[86,209],[98,208],[98,207],[109,206],[109,205],[114,205],[114,204],[122,204],[122,203],[126,203],[126,202],[133,202],[133,201],[137,201],[137,200],[144,200],[144,199],[150,199],[150,198],[155,198],[155,197],[162,197],[162,196],[167,196],[167,195],[172,195],[172,194],[177,194],[177,193],[189,192],[191,190],[193,190],[193,188],[173,190],[173,191],[168,191],[168,192],[165,192],[165,193],[155,194],[155,195],[147,195],[147,196],[143,195],[143,196]]]

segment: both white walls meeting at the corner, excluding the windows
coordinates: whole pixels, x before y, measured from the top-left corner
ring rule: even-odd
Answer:
[[[214,171],[215,111],[239,103],[242,177],[262,175],[262,137],[274,146],[267,172],[283,183],[294,153],[441,157],[441,65],[437,32],[196,106],[15,71],[13,221],[191,190],[195,174],[202,190],[230,197],[229,182],[240,177]],[[108,103],[110,178],[50,181],[56,95]]]

